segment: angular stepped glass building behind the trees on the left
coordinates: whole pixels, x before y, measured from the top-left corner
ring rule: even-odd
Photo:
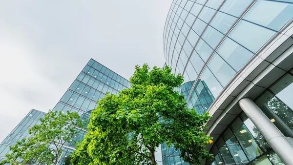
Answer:
[[[66,114],[77,112],[81,120],[89,122],[91,111],[98,105],[97,101],[104,98],[106,93],[117,94],[122,89],[131,86],[125,78],[108,69],[99,62],[90,59],[84,69],[77,76],[63,97],[53,108],[53,111],[61,111]],[[19,125],[0,144],[0,160],[5,159],[5,154],[9,152],[9,145],[14,145],[17,141],[28,137],[28,128],[40,123],[40,119],[45,113],[31,110]],[[59,158],[59,165],[64,165],[65,158],[75,149],[76,142],[83,139],[86,130],[75,135],[74,138],[64,145],[64,150]]]

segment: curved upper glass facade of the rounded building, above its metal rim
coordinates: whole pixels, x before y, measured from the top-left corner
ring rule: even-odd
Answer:
[[[193,82],[187,102],[204,81],[217,97],[251,57],[293,18],[281,0],[174,0],[165,23],[167,65]],[[192,107],[192,106],[190,106]]]

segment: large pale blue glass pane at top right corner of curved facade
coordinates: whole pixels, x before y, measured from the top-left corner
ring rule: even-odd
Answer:
[[[293,18],[293,4],[257,0],[243,19],[279,31]]]

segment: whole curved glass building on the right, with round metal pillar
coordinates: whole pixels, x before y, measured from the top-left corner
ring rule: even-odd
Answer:
[[[166,63],[184,76],[188,108],[212,116],[215,158],[203,165],[293,165],[292,19],[293,0],[172,2]]]

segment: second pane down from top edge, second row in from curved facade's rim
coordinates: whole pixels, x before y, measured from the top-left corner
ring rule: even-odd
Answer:
[[[210,22],[210,25],[223,34],[231,28],[232,24],[236,21],[236,17],[230,16],[228,14],[218,12],[215,17]]]

